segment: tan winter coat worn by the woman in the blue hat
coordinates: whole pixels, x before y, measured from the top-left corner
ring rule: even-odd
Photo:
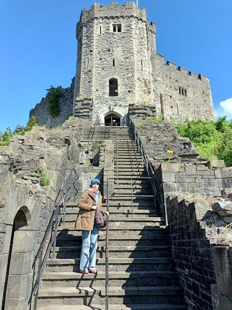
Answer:
[[[92,210],[94,205],[93,199],[95,200],[94,193],[91,189],[86,189],[82,194],[80,200],[78,201],[77,206],[79,207],[79,213],[77,215],[75,228],[79,230],[93,230],[94,228],[94,219],[95,219],[95,210]],[[98,209],[103,214],[106,210],[102,209],[102,195],[100,194],[98,200]]]

